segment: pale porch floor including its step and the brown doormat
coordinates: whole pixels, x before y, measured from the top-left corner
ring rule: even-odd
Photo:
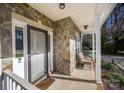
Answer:
[[[48,90],[96,90],[94,71],[92,66],[84,65],[74,69],[72,76],[53,73],[36,84],[40,89]]]

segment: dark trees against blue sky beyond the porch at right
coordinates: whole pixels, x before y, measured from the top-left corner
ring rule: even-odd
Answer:
[[[117,4],[110,16],[102,27],[101,44],[102,50],[111,50],[113,54],[117,54],[120,43],[124,40],[124,4]],[[123,42],[124,43],[124,42]],[[105,45],[107,44],[107,45]],[[110,49],[111,48],[111,49]]]

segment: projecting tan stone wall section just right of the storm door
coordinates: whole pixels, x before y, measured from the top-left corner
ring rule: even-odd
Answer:
[[[70,71],[70,39],[75,40],[76,33],[80,30],[70,17],[56,21],[57,28],[54,32],[54,62],[56,70],[71,75]]]

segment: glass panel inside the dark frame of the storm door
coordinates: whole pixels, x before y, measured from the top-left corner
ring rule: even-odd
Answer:
[[[46,33],[39,29],[30,29],[30,82],[41,79],[46,72]]]

